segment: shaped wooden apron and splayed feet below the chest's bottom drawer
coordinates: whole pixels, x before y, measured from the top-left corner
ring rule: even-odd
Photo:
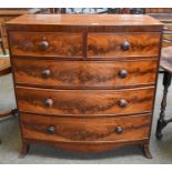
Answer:
[[[134,141],[119,141],[119,142],[57,142],[57,141],[48,141],[48,140],[34,140],[34,139],[23,139],[22,143],[22,150],[20,153],[21,158],[24,158],[30,149],[31,143],[39,143],[39,144],[45,144],[55,146],[58,149],[61,149],[63,151],[70,151],[70,152],[79,152],[84,154],[90,153],[99,153],[99,152],[105,152],[105,151],[113,151],[114,149],[119,149],[121,146],[133,146],[133,145],[149,145],[148,144],[149,139],[141,139],[141,140],[134,140]],[[145,146],[145,150],[149,148]],[[145,151],[143,151],[145,155]],[[149,158],[148,155],[145,155]],[[149,158],[150,159],[150,158]]]

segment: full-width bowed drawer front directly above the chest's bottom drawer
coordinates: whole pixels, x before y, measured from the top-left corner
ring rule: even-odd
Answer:
[[[48,90],[17,87],[19,110],[40,114],[130,114],[152,110],[154,88]]]

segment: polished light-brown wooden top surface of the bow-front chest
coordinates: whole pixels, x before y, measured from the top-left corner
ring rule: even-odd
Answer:
[[[54,26],[161,26],[144,14],[24,14],[8,24],[54,24]]]

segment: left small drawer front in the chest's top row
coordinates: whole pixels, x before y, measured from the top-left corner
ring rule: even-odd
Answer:
[[[34,57],[82,57],[82,33],[10,32],[11,53]]]

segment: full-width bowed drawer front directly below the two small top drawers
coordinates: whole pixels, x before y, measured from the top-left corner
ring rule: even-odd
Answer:
[[[13,59],[13,62],[17,83],[44,87],[120,88],[152,84],[156,71],[156,59],[117,62]]]

